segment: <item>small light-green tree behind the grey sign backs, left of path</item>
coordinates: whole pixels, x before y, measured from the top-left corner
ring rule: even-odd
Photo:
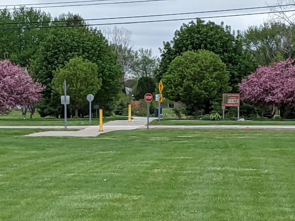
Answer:
[[[65,66],[54,72],[53,88],[63,95],[63,83],[67,81],[67,94],[71,96],[70,107],[78,117],[78,109],[87,103],[87,94],[96,94],[101,87],[102,79],[97,77],[98,67],[89,60],[76,57],[65,63]]]

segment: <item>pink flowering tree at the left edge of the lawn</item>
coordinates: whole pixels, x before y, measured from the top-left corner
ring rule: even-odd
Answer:
[[[9,60],[0,61],[0,114],[8,114],[17,105],[35,113],[35,104],[42,99],[45,86],[34,82],[30,75]]]

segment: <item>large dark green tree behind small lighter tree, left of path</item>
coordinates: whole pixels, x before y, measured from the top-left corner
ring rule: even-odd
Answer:
[[[39,82],[46,85],[43,101],[39,104],[41,116],[60,114],[60,98],[53,90],[53,71],[62,68],[65,62],[81,56],[98,66],[97,76],[102,86],[95,96],[94,103],[105,112],[115,108],[121,91],[122,72],[117,56],[109,47],[100,31],[84,27],[52,28],[45,41],[40,43],[37,58],[32,62],[31,71]]]

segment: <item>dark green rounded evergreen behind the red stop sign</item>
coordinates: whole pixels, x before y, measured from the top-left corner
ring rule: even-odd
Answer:
[[[144,99],[145,94],[153,94],[156,90],[156,84],[153,78],[142,77],[139,79],[136,87],[135,98],[137,100]]]

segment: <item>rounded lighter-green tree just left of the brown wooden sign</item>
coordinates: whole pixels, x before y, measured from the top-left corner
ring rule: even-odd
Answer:
[[[197,112],[205,105],[210,112],[210,101],[221,100],[222,93],[230,91],[230,73],[219,55],[207,51],[188,51],[176,57],[163,76],[164,95],[180,101]]]

